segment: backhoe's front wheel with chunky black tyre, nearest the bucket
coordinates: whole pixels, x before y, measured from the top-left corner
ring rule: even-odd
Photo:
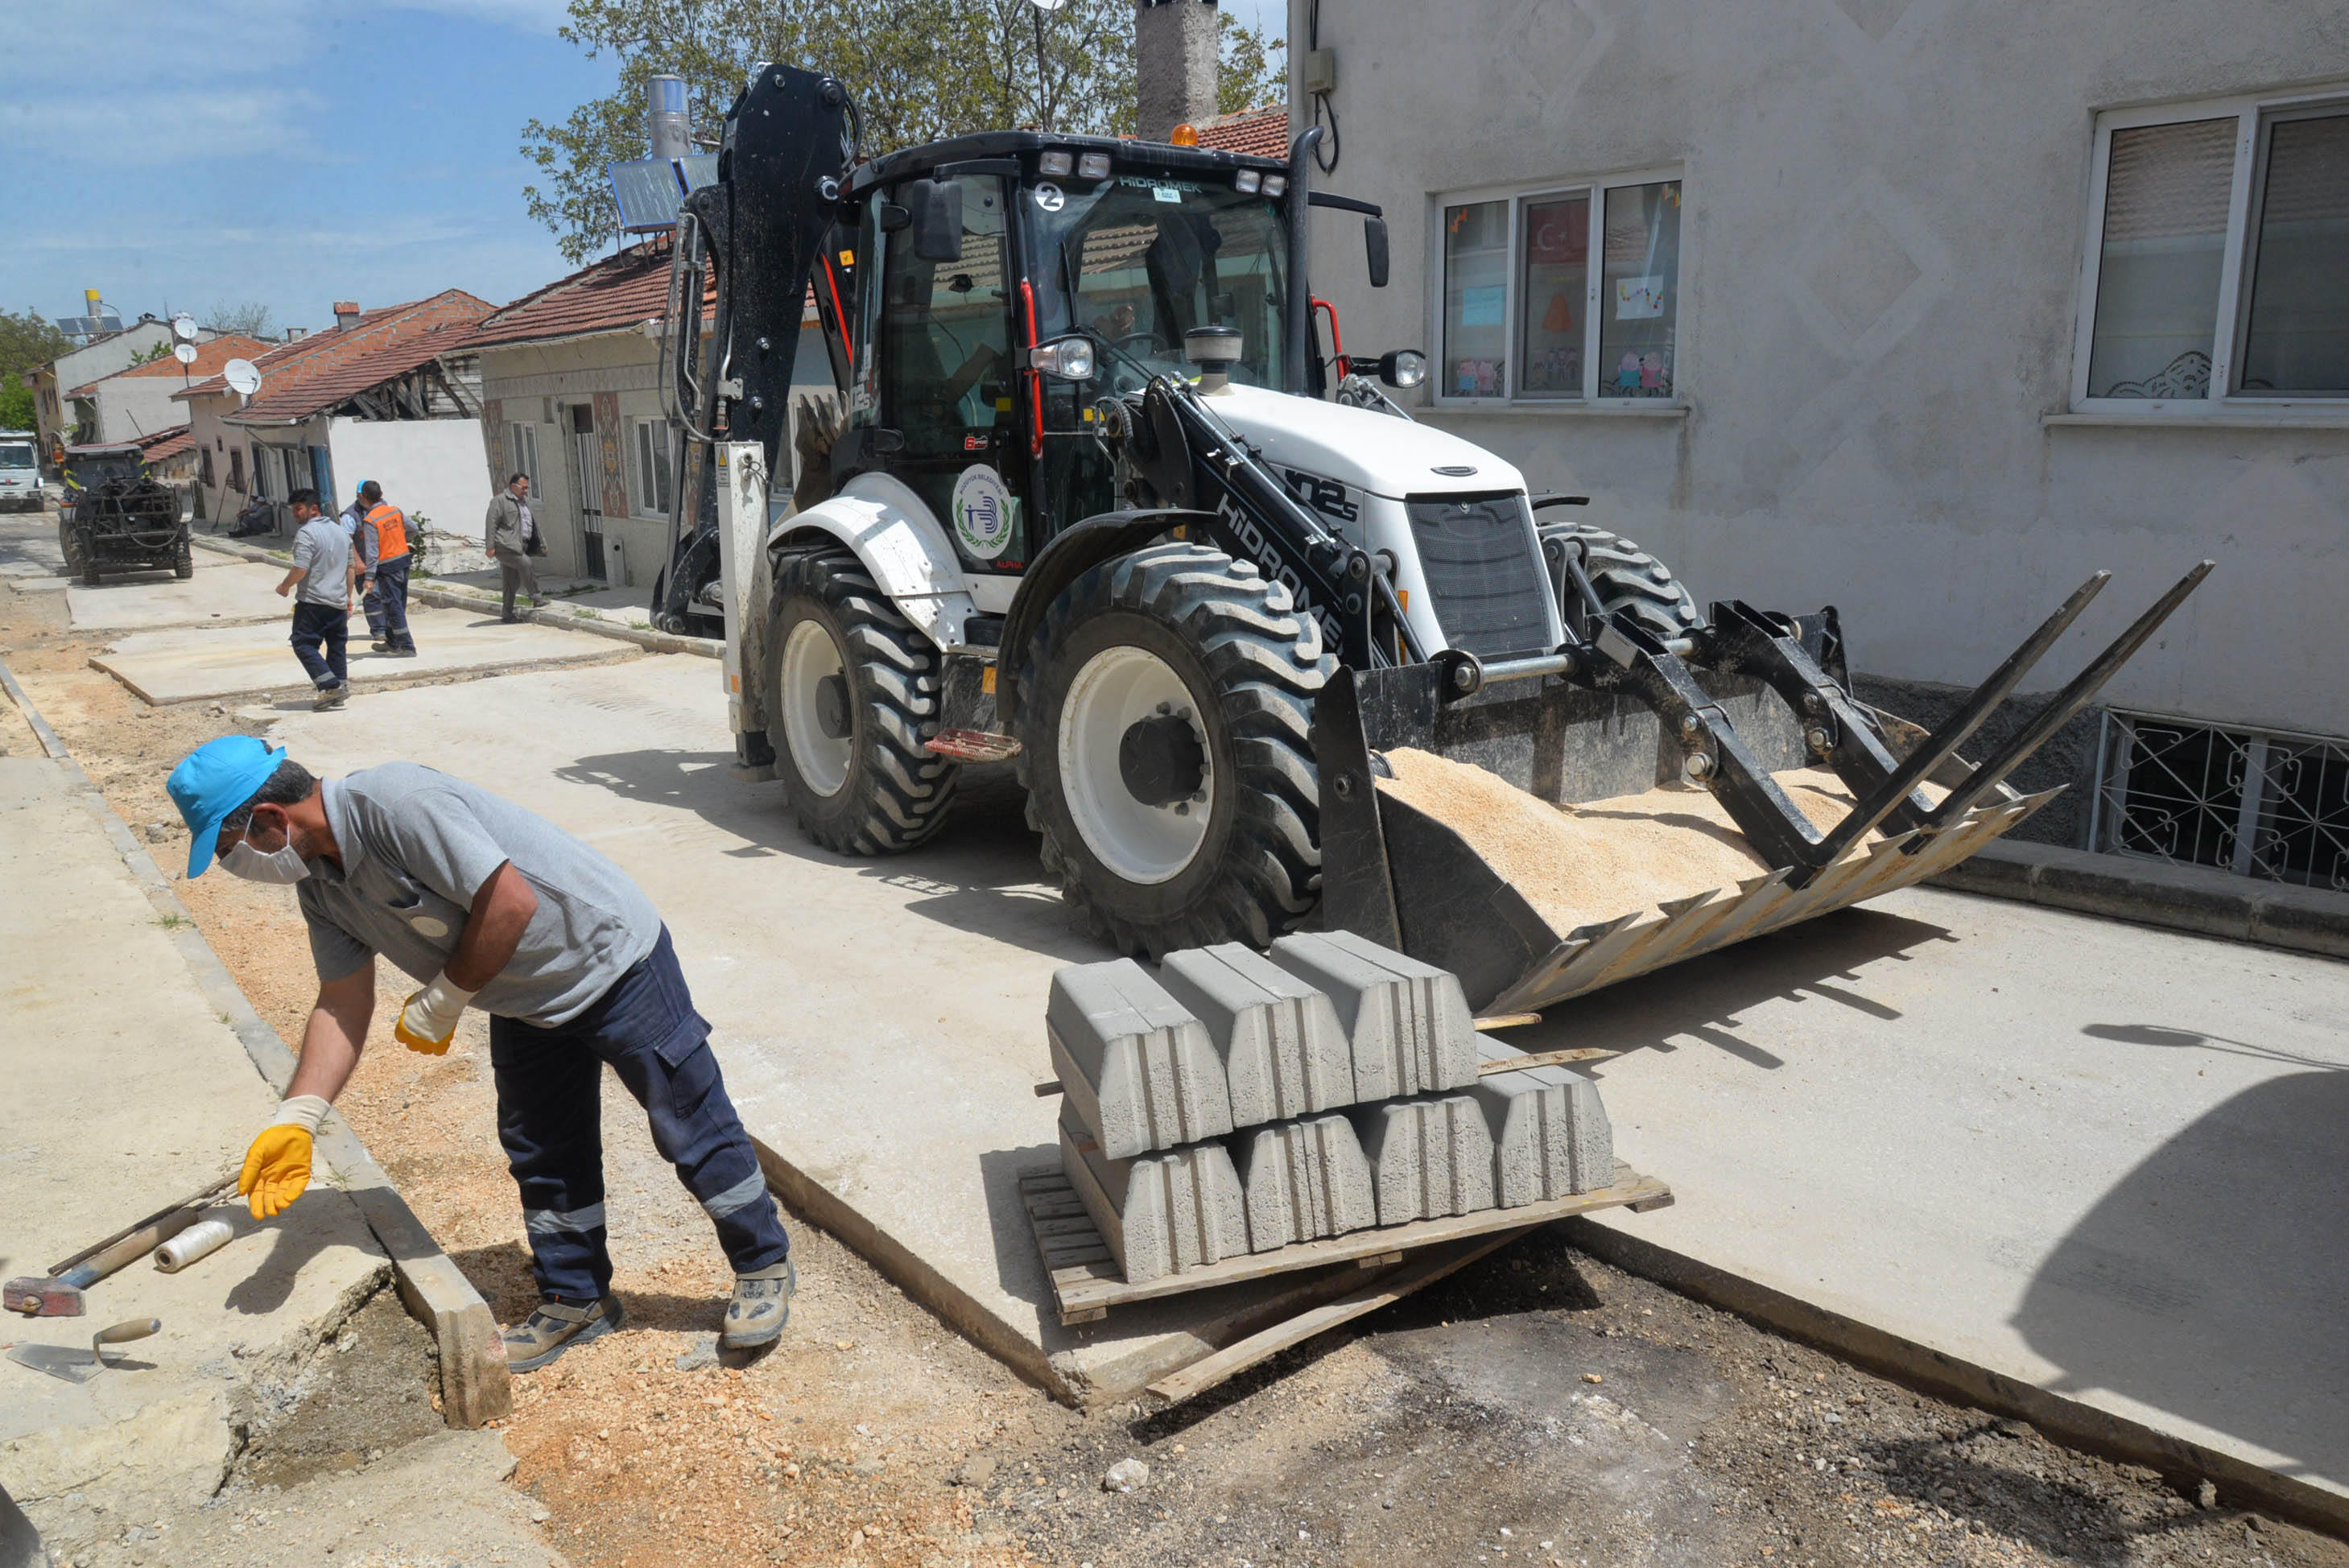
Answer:
[[[1123,953],[1271,944],[1320,894],[1320,627],[1203,545],[1104,561],[1019,667],[1019,782],[1076,922]]]

